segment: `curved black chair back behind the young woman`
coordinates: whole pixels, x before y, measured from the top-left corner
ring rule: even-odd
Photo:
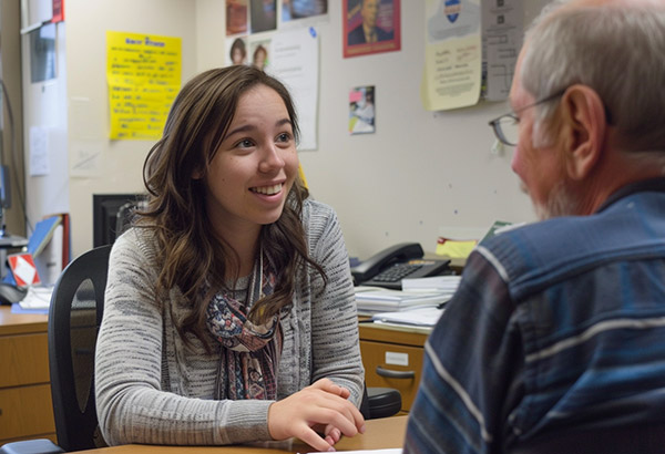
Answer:
[[[49,310],[49,367],[58,444],[103,446],[94,401],[94,349],[102,321],[111,246],[75,258],[62,271]]]

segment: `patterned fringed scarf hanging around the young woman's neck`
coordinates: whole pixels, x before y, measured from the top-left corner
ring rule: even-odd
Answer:
[[[242,301],[224,291],[215,295],[207,307],[206,324],[222,344],[217,370],[215,399],[277,398],[277,365],[282,354],[282,330],[278,316],[264,324],[247,320],[252,306],[262,297],[273,293],[276,274],[263,251],[254,267],[247,288],[247,299]]]

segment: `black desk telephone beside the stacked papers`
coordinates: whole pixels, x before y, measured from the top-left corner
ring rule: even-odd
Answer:
[[[356,286],[378,286],[401,290],[403,278],[423,278],[450,274],[450,260],[423,259],[418,243],[401,243],[351,267]]]

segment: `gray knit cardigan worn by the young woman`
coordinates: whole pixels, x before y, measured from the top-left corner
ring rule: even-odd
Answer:
[[[328,285],[309,269],[299,271],[293,305],[282,318],[284,348],[277,399],[328,378],[350,390],[359,405],[364,369],[347,250],[335,211],[306,200],[303,209],[309,254]],[[95,352],[100,429],[110,445],[126,443],[223,445],[272,440],[272,401],[213,400],[219,345],[207,354],[180,339],[182,293],[172,289],[155,302],[158,265],[146,230],[122,235],[111,252],[104,318]]]

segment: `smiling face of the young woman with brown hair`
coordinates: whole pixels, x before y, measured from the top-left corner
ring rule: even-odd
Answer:
[[[248,90],[204,175],[206,209],[217,235],[258,234],[262,225],[275,223],[297,172],[284,101],[266,85]]]

